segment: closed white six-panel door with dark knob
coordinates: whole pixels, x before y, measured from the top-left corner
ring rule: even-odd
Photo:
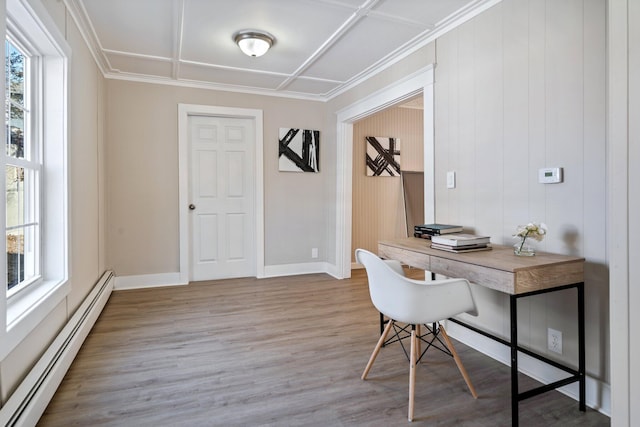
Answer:
[[[191,280],[256,275],[253,125],[189,116]]]

